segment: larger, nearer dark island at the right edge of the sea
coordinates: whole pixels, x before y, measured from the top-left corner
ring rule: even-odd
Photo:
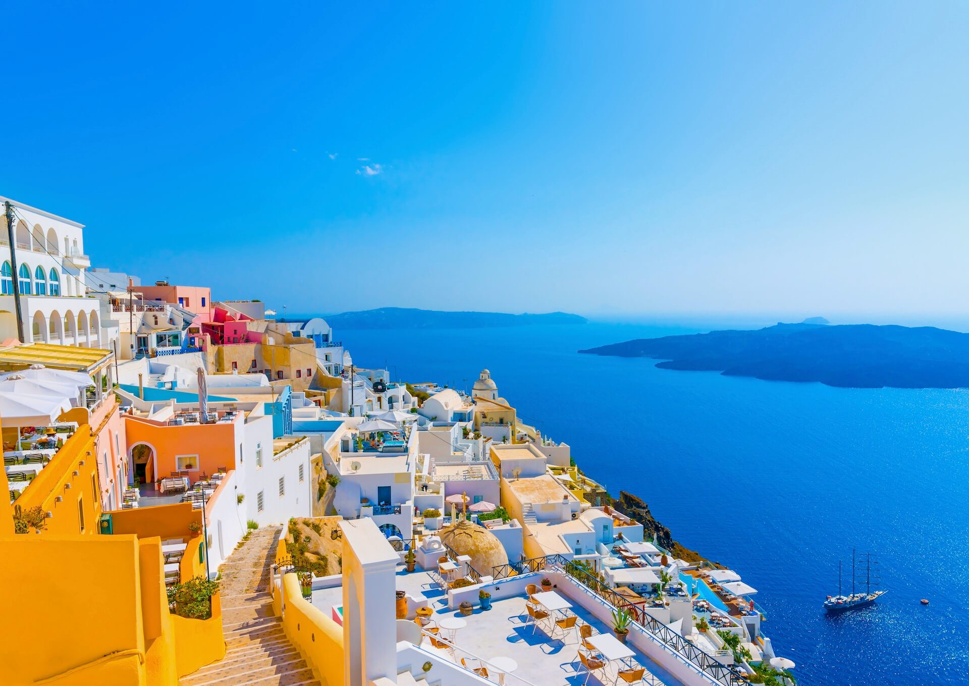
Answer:
[[[662,369],[719,371],[840,388],[969,387],[969,333],[935,327],[826,326],[820,318],[758,330],[640,338],[580,350],[653,358]]]

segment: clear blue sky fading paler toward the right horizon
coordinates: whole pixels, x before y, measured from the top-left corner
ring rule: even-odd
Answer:
[[[8,6],[0,194],[290,312],[961,314],[969,6],[678,5]]]

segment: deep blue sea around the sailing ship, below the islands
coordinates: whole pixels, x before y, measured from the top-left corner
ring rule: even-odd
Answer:
[[[356,364],[395,379],[469,389],[490,369],[522,421],[760,591],[766,634],[799,683],[969,683],[969,390],[832,389],[577,353],[697,330],[337,335]],[[839,558],[850,584],[852,548],[874,553],[889,593],[828,617],[821,604],[837,591]]]

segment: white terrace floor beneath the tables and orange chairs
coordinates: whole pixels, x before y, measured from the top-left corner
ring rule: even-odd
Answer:
[[[545,684],[578,686],[586,680],[585,670],[582,669],[578,658],[580,645],[578,631],[572,629],[563,633],[558,630],[555,637],[550,638],[547,628],[543,629],[540,626],[536,630],[529,622],[524,595],[493,600],[489,610],[482,610],[476,604],[474,612],[465,617],[459,611],[448,608],[447,593],[425,572],[413,574],[398,572],[397,589],[406,591],[412,598],[426,599],[428,606],[433,610],[430,620],[436,625],[440,625],[442,620],[449,618],[460,618],[466,622],[466,626],[456,631],[454,639],[457,646],[456,660],[448,654],[447,650],[430,648],[428,639],[424,639],[425,648],[434,650],[446,659],[460,664],[461,657],[468,657],[462,654],[462,650],[485,662],[499,657],[511,658],[517,663],[517,669],[506,676],[505,683],[509,685],[529,683],[536,686]],[[570,602],[567,595],[564,593],[560,595],[566,602]],[[314,605],[316,605],[315,593]],[[569,611],[578,617],[578,625],[583,623],[590,625],[595,634],[612,634],[609,626],[579,607],[578,603],[571,603],[571,606]],[[633,659],[646,670],[642,683],[651,686],[680,684],[669,672],[642,655],[632,645],[628,647],[634,654]],[[470,662],[471,658],[468,659]],[[594,671],[589,676],[588,683],[615,683],[616,664],[613,662],[608,665],[605,673],[604,670]],[[619,683],[622,684],[623,681],[619,680]]]

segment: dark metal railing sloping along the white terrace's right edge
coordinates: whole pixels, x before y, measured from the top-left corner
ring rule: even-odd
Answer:
[[[689,661],[696,669],[701,670],[706,676],[717,683],[730,686],[731,684],[746,682],[743,674],[733,665],[724,665],[713,655],[698,648],[689,640],[684,639],[666,624],[647,613],[644,608],[620,596],[605,581],[596,577],[575,562],[566,561],[560,567],[561,571],[572,577],[581,588],[598,596],[613,608],[627,610],[633,618],[633,622],[643,631],[672,648],[680,657]]]

